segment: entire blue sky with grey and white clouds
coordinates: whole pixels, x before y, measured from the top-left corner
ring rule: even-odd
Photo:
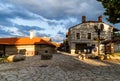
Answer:
[[[0,0],[0,37],[28,37],[34,30],[36,36],[61,42],[81,16],[97,20],[103,12],[96,0]]]

